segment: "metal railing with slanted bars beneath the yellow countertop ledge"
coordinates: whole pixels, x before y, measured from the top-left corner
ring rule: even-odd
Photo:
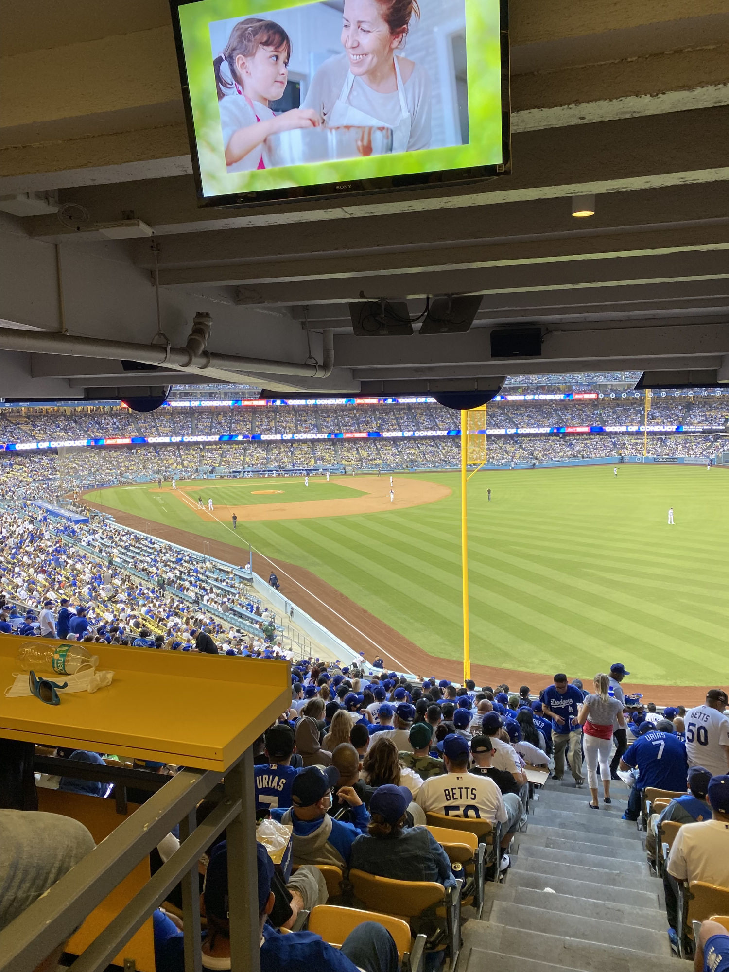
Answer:
[[[46,757],[37,759],[35,768],[57,772],[59,766],[73,769],[74,777],[81,779],[114,781],[115,789],[159,786],[159,778],[151,779],[156,774],[126,767],[118,769]],[[179,850],[79,955],[72,965],[73,972],[106,969],[178,884],[182,884],[183,892],[185,972],[201,972],[197,862],[223,830],[226,830],[228,860],[230,969],[231,972],[258,972],[258,902],[256,894],[249,891],[256,887],[258,880],[253,748],[249,747],[226,770],[225,780],[216,771],[191,769],[162,780],[163,785],[146,803],[0,931],[0,972],[33,972],[178,824]],[[195,809],[206,798],[218,805],[198,826]]]

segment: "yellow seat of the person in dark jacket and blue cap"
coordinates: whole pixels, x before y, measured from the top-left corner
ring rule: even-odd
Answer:
[[[349,882],[355,897],[364,904],[365,908],[407,921],[415,934],[419,933],[421,922],[440,925],[441,927],[429,939],[428,948],[434,952],[447,950],[451,959],[451,968],[455,968],[461,949],[463,881],[457,881],[456,888],[445,888],[431,881],[394,881],[391,878],[379,878],[353,868],[349,872]]]

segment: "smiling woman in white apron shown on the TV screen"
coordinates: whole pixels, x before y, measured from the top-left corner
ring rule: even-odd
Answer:
[[[397,55],[417,0],[345,0],[343,54],[330,57],[314,75],[303,108],[330,127],[386,125],[393,152],[431,144],[431,80],[421,65]]]

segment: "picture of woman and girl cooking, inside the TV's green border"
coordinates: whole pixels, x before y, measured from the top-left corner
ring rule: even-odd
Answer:
[[[468,143],[464,0],[328,0],[210,37],[228,172]]]

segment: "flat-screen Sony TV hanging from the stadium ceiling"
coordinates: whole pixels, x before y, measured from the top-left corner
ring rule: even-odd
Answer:
[[[509,170],[507,0],[170,0],[201,205]]]

